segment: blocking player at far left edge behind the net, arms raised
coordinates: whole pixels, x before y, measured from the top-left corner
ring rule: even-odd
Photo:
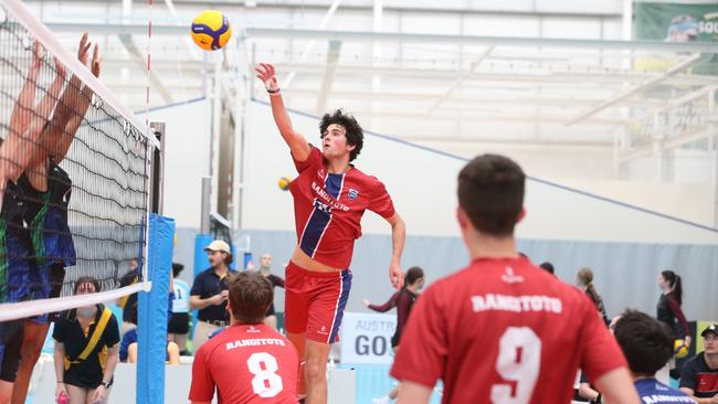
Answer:
[[[42,59],[42,45],[35,42],[25,83],[10,116],[9,130],[0,146],[0,304],[19,302],[30,298],[32,246],[23,222],[22,190],[17,182],[32,158],[65,78],[65,68],[55,59],[54,79],[35,105]],[[6,343],[17,338],[18,330],[21,332],[22,328],[15,326],[15,322],[0,323],[0,363],[3,364],[0,396],[7,395],[15,379],[20,344],[6,347]],[[12,371],[4,372],[8,369]]]

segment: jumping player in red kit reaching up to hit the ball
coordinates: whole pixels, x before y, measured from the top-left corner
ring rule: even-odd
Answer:
[[[353,242],[361,236],[361,216],[370,210],[391,225],[389,277],[397,288],[403,284],[404,222],[384,185],[350,164],[363,145],[357,120],[341,110],[326,114],[319,125],[319,150],[292,127],[274,66],[261,64],[255,71],[270,93],[274,121],[299,172],[289,185],[297,246],[286,268],[286,330],[306,360],[306,403],[324,404],[327,358],[330,344],[337,341],[351,288],[349,264]]]

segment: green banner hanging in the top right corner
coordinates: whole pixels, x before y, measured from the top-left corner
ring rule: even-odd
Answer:
[[[636,2],[636,40],[665,42],[718,42],[718,4],[672,4]],[[718,43],[717,43],[718,45]],[[680,55],[636,61],[636,70],[666,70]],[[718,74],[718,59],[696,64],[695,74]]]

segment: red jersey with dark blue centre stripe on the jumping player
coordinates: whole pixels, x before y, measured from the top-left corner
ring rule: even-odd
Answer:
[[[310,147],[305,161],[294,159],[299,177],[289,185],[297,244],[324,265],[348,268],[353,242],[361,236],[365,211],[389,219],[394,215],[394,205],[384,184],[376,177],[353,166],[341,174],[329,173],[319,149]]]

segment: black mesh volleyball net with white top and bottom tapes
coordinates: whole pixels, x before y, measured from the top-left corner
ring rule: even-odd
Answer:
[[[0,0],[0,321],[147,286],[158,142],[102,84],[92,42],[78,35],[67,50],[21,1]],[[73,296],[81,277],[101,291]]]

